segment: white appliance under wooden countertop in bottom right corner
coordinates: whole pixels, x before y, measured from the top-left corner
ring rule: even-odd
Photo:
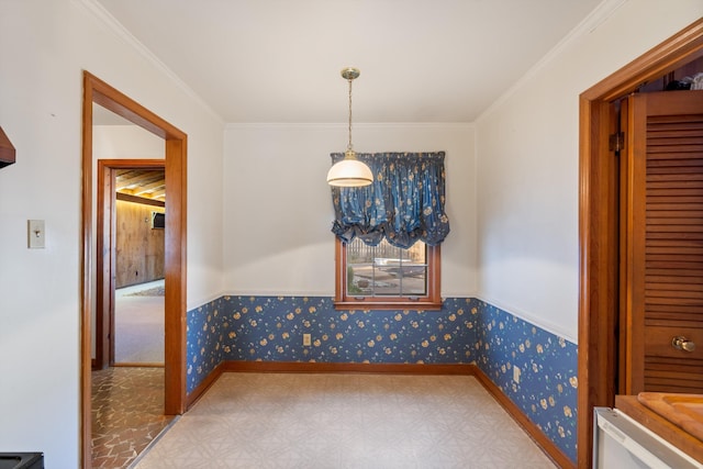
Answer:
[[[593,410],[594,469],[703,469],[684,454],[617,409]]]

